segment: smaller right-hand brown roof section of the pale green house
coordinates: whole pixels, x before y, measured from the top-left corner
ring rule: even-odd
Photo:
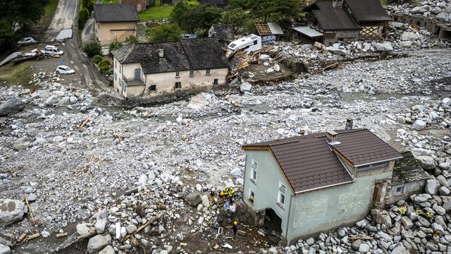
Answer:
[[[402,157],[393,147],[366,129],[339,134],[337,139],[340,144],[333,145],[333,148],[354,166]]]

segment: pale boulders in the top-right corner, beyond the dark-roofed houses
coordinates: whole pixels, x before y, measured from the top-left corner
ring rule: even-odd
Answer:
[[[388,6],[388,10],[396,14],[421,15],[435,20],[451,23],[451,1],[421,1],[420,6],[414,4],[402,4]]]

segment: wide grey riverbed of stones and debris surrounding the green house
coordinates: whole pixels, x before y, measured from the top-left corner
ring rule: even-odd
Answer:
[[[0,218],[4,223],[0,243],[13,246],[23,232],[39,233],[44,239],[67,232],[66,242],[53,243],[42,253],[70,246],[86,234],[92,234],[86,243],[90,253],[130,253],[140,248],[192,253],[195,248],[180,243],[192,241],[188,236],[199,232],[197,237],[214,239],[217,231],[221,211],[206,203],[209,191],[233,183],[239,193],[245,166],[241,145],[343,128],[352,117],[355,128],[369,128],[404,149],[421,149],[417,156],[422,164],[434,166],[428,169],[433,171],[427,195],[419,195],[426,200],[416,202],[413,196],[340,229],[345,235],[340,230],[322,234],[316,241],[299,241],[289,251],[342,253],[359,251],[361,246],[361,251],[369,252],[403,253],[414,246],[419,251],[440,251],[449,243],[450,218],[440,214],[449,203],[449,195],[443,195],[449,189],[449,140],[421,133],[425,130],[415,129],[413,123],[424,119],[428,128],[449,130],[442,124],[450,119],[449,99],[434,93],[446,85],[431,88],[433,80],[450,77],[449,56],[446,50],[417,52],[403,59],[350,63],[307,79],[252,86],[242,93],[207,92],[197,98],[202,102],[195,109],[189,100],[132,109],[101,107],[87,90],[53,74],[39,74],[42,78],[35,83],[41,89],[36,91],[2,86],[1,104],[11,97],[23,104],[0,118],[0,198],[2,204],[15,204],[10,217]],[[358,89],[350,85],[356,81]],[[385,96],[388,92],[402,96]],[[433,119],[431,112],[438,116]],[[409,113],[412,124],[398,121]],[[431,191],[436,187],[436,193]],[[38,226],[30,220],[24,194]],[[403,206],[407,212],[402,214],[397,208]],[[425,215],[412,217],[416,208],[424,214],[433,212],[431,225],[422,224],[419,217]],[[161,219],[123,241],[161,212]],[[380,217],[384,219],[376,219]],[[414,226],[406,229],[404,217]],[[420,232],[427,235],[434,223],[443,227],[443,236],[424,242]],[[77,225],[75,229],[71,224]],[[404,237],[406,232],[413,237]],[[361,235],[373,239],[350,240]],[[342,241],[345,236],[348,241]],[[33,240],[27,243],[32,245]],[[218,248],[228,248],[223,245]],[[13,247],[18,253],[20,248]],[[253,250],[285,252],[276,246],[260,248]]]

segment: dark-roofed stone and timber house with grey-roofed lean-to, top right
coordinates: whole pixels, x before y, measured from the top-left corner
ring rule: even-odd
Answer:
[[[381,39],[392,20],[378,0],[319,0],[304,11],[309,25],[293,29],[301,40],[323,44]]]

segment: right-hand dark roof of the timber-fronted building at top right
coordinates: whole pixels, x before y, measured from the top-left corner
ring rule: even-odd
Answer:
[[[387,11],[381,6],[379,0],[345,0],[352,14],[359,22],[390,21]]]

